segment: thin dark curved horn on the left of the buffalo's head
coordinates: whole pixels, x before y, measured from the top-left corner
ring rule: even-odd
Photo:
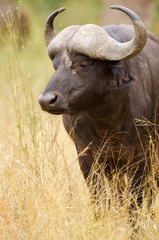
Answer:
[[[44,39],[46,46],[49,45],[49,43],[52,41],[52,39],[56,36],[56,32],[54,30],[54,19],[55,17],[63,12],[66,8],[60,8],[53,13],[50,14],[50,16],[47,18],[44,28]]]

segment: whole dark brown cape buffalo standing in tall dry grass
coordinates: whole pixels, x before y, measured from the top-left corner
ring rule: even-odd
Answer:
[[[87,182],[93,168],[108,179],[121,172],[134,192],[149,165],[147,130],[136,119],[159,122],[159,39],[130,9],[111,8],[133,26],[73,25],[56,35],[54,18],[65,8],[48,17],[44,38],[55,72],[38,100],[42,110],[62,114]]]

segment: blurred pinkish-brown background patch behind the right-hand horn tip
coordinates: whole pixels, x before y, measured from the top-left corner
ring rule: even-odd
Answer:
[[[104,0],[104,8],[100,17],[100,25],[130,24],[131,20],[120,11],[111,10],[111,5],[121,5],[133,10],[144,22],[148,29],[151,28],[155,13],[155,0]]]

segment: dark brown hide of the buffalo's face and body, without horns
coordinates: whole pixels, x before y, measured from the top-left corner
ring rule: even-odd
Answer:
[[[105,29],[119,42],[130,41],[134,36],[130,25]],[[102,149],[98,166],[109,179],[116,171],[127,173],[133,179],[134,191],[146,174],[143,151],[148,143],[147,132],[142,126],[135,126],[136,119],[154,122],[157,113],[159,122],[159,39],[148,33],[147,43],[137,56],[113,62],[68,52],[67,42],[74,32],[73,29],[63,42],[58,39],[57,45],[49,48],[56,71],[39,102],[43,110],[63,114],[85,179]],[[81,154],[84,149],[87,150]]]

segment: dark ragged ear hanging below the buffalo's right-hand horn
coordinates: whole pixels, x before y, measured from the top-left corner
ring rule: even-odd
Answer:
[[[136,78],[122,66],[109,66],[107,85],[109,88],[118,89],[129,85]]]

